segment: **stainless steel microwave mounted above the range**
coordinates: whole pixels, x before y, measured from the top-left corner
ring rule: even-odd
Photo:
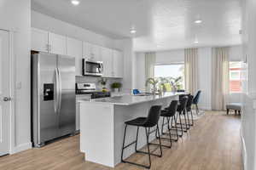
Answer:
[[[103,74],[102,61],[90,61],[83,59],[83,75],[84,76],[97,76],[101,77]]]

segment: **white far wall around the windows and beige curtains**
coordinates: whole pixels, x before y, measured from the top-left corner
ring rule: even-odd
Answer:
[[[230,47],[230,60],[241,60],[241,45]],[[136,54],[136,88],[144,90],[145,88],[145,59],[144,53]],[[198,48],[199,62],[199,88],[201,89],[201,99],[199,106],[204,110],[212,109],[212,48]],[[184,62],[184,50],[177,49],[172,51],[163,51],[156,53],[156,64],[180,63]],[[241,102],[241,94],[230,94],[230,102]]]

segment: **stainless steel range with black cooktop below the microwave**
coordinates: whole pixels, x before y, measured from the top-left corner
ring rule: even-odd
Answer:
[[[76,94],[91,94],[91,99],[107,98],[111,96],[110,92],[96,90],[95,83],[77,83]]]

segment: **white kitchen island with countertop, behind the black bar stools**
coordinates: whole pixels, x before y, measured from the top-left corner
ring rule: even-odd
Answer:
[[[148,116],[152,105],[170,105],[178,94],[125,95],[105,99],[80,100],[80,150],[85,161],[115,167],[121,159],[125,122],[138,116]],[[161,120],[160,120],[161,121]],[[159,122],[161,123],[161,122]],[[125,143],[136,138],[136,127],[128,127]],[[150,140],[154,139],[150,136]],[[145,132],[139,132],[137,148],[146,144]],[[134,147],[127,148],[124,157],[131,156]]]

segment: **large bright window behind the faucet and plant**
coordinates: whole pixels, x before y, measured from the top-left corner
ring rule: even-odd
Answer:
[[[177,80],[177,89],[184,89],[184,64],[154,65],[154,77],[164,80],[167,92],[172,91],[172,83]]]

